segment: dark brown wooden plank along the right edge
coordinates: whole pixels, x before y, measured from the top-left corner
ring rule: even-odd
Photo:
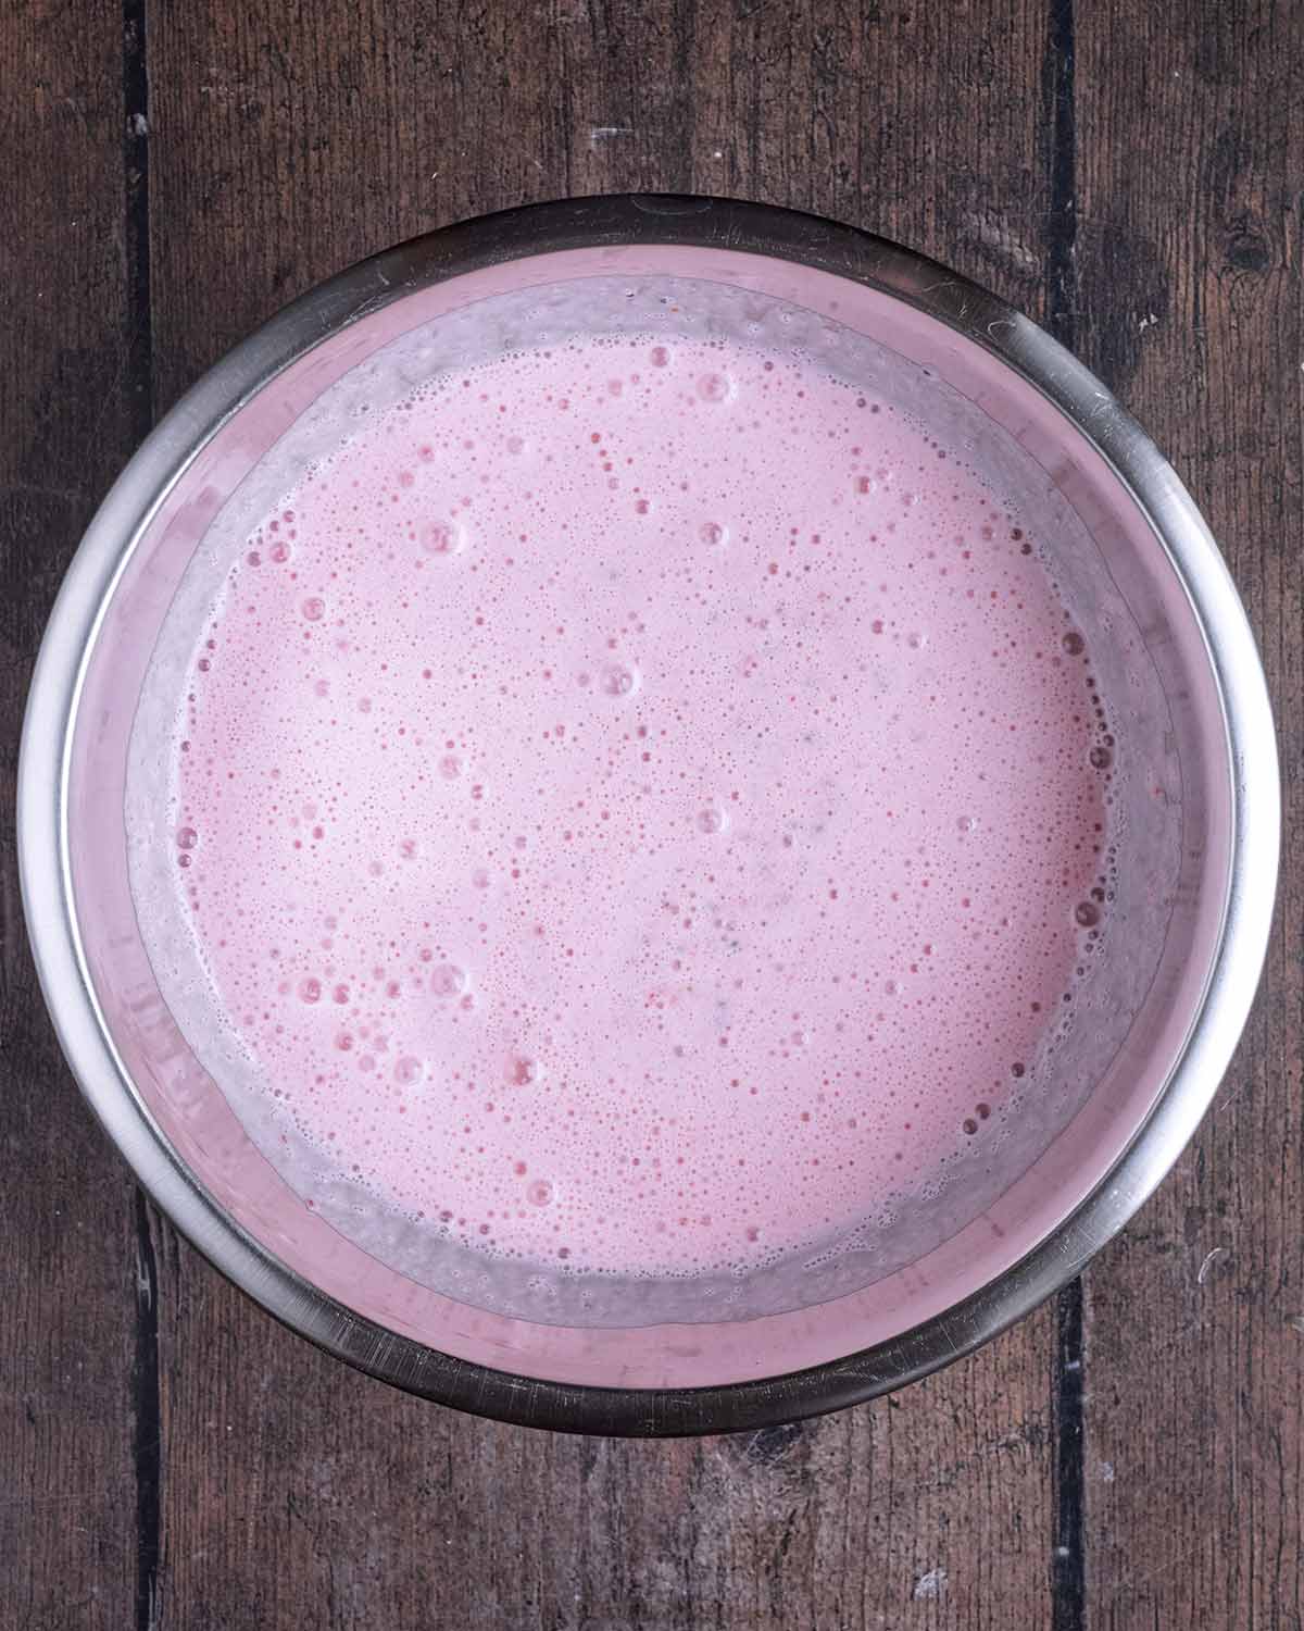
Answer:
[[[1077,47],[1079,343],[1231,559],[1288,789],[1237,1062],[1087,1279],[1090,1624],[1284,1631],[1304,1623],[1304,23],[1288,0],[1084,8]]]

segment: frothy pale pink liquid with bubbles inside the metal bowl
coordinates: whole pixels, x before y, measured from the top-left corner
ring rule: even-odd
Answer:
[[[231,564],[171,745],[210,1003],[287,1124],[469,1246],[628,1272],[989,1155],[1107,843],[1019,517],[732,346],[518,354],[354,431]]]

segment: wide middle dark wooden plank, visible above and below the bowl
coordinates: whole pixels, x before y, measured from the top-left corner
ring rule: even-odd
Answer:
[[[1043,49],[1022,0],[158,8],[160,401],[359,254],[567,192],[823,209],[1040,308]],[[892,1404],[629,1445],[401,1398],[171,1236],[160,1311],[161,1603],[187,1628],[1051,1623],[1048,1313]]]

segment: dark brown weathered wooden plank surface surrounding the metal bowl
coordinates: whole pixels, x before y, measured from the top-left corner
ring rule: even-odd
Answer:
[[[0,1628],[1299,1631],[1299,7],[16,0],[0,64]],[[199,1261],[62,1063],[10,830],[42,620],[150,418],[362,254],[629,188],[870,227],[1074,344],[1211,519],[1294,776],[1245,1042],[1086,1280],[893,1399],[659,1445],[408,1399]]]

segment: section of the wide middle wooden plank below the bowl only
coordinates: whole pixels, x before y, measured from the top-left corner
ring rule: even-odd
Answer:
[[[628,1443],[344,1373],[189,1254],[163,1285],[161,1602],[187,1631],[300,1626],[310,1605],[321,1626],[1048,1624],[1046,1411],[1019,1339],[877,1411]]]

